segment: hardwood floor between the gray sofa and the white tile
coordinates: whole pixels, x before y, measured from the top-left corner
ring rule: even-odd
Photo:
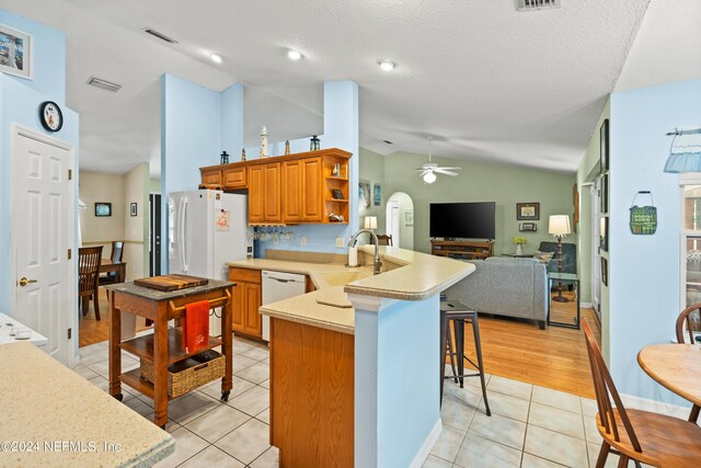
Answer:
[[[587,319],[600,341],[601,331],[594,310],[583,308],[582,318]],[[535,322],[481,315],[480,336],[487,374],[581,397],[595,397],[582,330],[560,327],[540,330]],[[469,326],[464,347],[473,357],[474,341]]]

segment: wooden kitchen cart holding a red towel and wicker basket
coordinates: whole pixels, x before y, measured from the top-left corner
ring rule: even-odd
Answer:
[[[185,313],[185,306],[199,300],[208,300],[210,308],[222,307],[221,339],[209,336],[207,349],[221,345],[221,354],[226,356],[225,376],[221,379],[221,400],[229,399],[232,388],[232,333],[233,287],[235,283],[209,279],[203,286],[195,286],[173,292],[162,292],[134,283],[118,283],[106,286],[110,295],[110,395],[122,400],[122,384],[135,388],[153,399],[153,422],[164,427],[168,422],[168,366],[193,354],[181,349],[182,333],[179,329],[168,328],[168,321],[180,319]],[[153,334],[120,340],[122,313],[131,312],[153,320]],[[141,369],[136,368],[122,374],[122,350],[136,356],[151,361],[154,368],[154,381],[141,378]]]

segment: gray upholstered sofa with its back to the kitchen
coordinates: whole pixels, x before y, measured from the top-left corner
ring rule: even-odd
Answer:
[[[502,256],[470,263],[476,270],[445,290],[448,299],[461,300],[479,312],[536,320],[544,330],[549,297],[543,263]]]

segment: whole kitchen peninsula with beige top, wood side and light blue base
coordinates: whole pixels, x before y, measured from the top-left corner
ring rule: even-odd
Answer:
[[[421,466],[440,434],[438,294],[474,266],[380,249],[377,276],[302,256],[229,263],[307,274],[317,287],[260,308],[271,317],[271,444],[281,466]],[[371,265],[372,248],[360,252]]]

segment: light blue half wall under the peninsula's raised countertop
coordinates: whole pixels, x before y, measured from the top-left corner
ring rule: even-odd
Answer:
[[[355,306],[355,466],[407,467],[440,419],[438,296]]]

